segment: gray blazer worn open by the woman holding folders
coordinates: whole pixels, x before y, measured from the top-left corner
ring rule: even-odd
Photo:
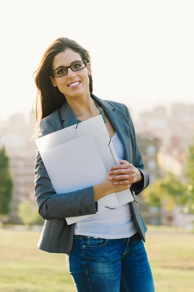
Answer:
[[[147,187],[149,176],[144,170],[129,110],[124,104],[102,100],[92,93],[91,97],[102,106],[113,128],[116,130],[124,146],[124,160],[137,167],[142,174],[143,180],[132,184],[130,187],[135,201],[129,204],[137,230],[145,241],[147,228],[139,212],[135,197]],[[41,120],[38,137],[75,124],[77,124],[76,116],[67,101],[65,101],[61,109],[55,110]],[[36,151],[35,201],[39,214],[46,219],[37,246],[39,249],[49,253],[67,254],[72,249],[75,223],[67,225],[65,218],[96,214],[97,202],[95,203],[94,200],[93,186],[71,193],[56,194],[40,153],[38,150]]]

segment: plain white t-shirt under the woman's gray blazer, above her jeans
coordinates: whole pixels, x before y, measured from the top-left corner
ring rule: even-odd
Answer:
[[[124,159],[124,147],[115,132],[111,139],[119,159]],[[126,238],[137,232],[129,203],[76,223],[74,234],[100,238]]]

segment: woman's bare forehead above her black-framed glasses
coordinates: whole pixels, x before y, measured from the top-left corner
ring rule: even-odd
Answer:
[[[59,66],[69,66],[70,63],[76,60],[81,60],[81,55],[70,49],[67,49],[64,52],[61,52],[54,57],[52,61],[52,68],[54,70],[55,68]]]

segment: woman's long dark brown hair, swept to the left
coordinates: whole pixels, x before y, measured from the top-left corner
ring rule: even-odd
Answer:
[[[82,60],[91,63],[89,52],[82,48],[75,40],[67,37],[59,37],[49,45],[40,61],[39,68],[33,73],[35,74],[34,82],[38,91],[34,100],[36,129],[32,138],[37,137],[39,122],[53,111],[61,108],[65,101],[64,94],[59,91],[58,87],[52,86],[49,76],[52,71],[52,61],[54,57],[64,52],[66,49],[73,50],[80,54]],[[89,81],[90,92],[93,92],[93,80],[91,75],[89,76]],[[40,109],[38,109],[38,104],[40,105]]]

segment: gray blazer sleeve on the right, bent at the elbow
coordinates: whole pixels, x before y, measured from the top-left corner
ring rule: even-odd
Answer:
[[[129,127],[133,133],[133,138],[134,138],[134,145],[133,146],[133,165],[139,169],[139,171],[141,172],[142,175],[142,180],[137,182],[137,183],[132,183],[130,189],[135,192],[135,195],[139,195],[149,184],[149,175],[146,172],[146,170],[144,169],[144,163],[143,163],[143,159],[142,159],[142,155],[140,152],[140,148],[137,144],[137,139],[136,139],[136,135],[135,135],[135,128],[129,113],[129,110],[127,108],[126,105],[125,106],[125,110],[126,110],[126,114],[128,117],[128,121],[129,121]]]

